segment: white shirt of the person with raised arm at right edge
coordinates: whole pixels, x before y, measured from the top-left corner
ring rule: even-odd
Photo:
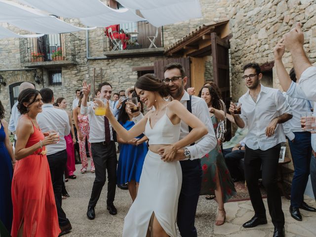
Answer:
[[[298,83],[292,81],[286,94],[300,99],[314,101],[314,111],[316,110],[316,67],[306,69]],[[316,151],[316,133],[312,133],[312,147]]]

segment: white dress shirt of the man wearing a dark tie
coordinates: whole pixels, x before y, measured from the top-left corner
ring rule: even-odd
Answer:
[[[81,104],[80,114],[88,115],[88,118],[89,118],[89,125],[90,125],[89,142],[90,143],[104,142],[105,141],[104,116],[95,115],[93,107],[94,107],[93,102],[90,102],[87,105],[87,107],[84,107]],[[112,132],[111,123],[110,123],[110,134],[111,134],[111,141],[113,141],[113,132]]]

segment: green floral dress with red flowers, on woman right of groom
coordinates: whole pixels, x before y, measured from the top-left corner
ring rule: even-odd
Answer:
[[[214,130],[218,126],[218,120],[215,116],[211,117]],[[231,174],[226,166],[225,159],[219,144],[201,158],[202,166],[202,185],[200,195],[214,195],[216,189],[216,170],[222,189],[223,201],[227,202],[229,198],[236,195],[236,189]]]

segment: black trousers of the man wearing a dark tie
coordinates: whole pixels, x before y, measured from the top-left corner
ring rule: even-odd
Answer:
[[[118,159],[115,142],[111,141],[110,144],[92,143],[91,151],[95,167],[95,179],[88,205],[95,207],[97,204],[106,181],[106,171],[108,171],[107,204],[112,204],[117,187]]]

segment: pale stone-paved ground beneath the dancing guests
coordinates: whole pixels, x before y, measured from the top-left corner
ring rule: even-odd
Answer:
[[[94,174],[89,171],[80,174],[80,165],[76,165],[76,180],[69,180],[66,188],[71,197],[63,200],[63,208],[69,218],[73,230],[66,237],[120,237],[122,234],[124,217],[132,203],[127,190],[117,189],[115,205],[118,214],[112,216],[106,209],[107,185],[102,190],[101,197],[95,209],[96,218],[88,220],[86,217],[87,204],[91,194]],[[305,201],[316,206],[315,200],[306,198]],[[267,200],[264,199],[268,210]],[[282,208],[285,215],[286,237],[316,237],[316,213],[301,210],[303,221],[298,222],[289,214],[289,201],[282,198]],[[272,237],[273,225],[267,211],[268,224],[253,229],[243,229],[241,225],[253,216],[250,201],[229,202],[225,204],[227,213],[226,223],[215,226],[217,204],[214,200],[199,198],[197,207],[196,227],[198,237]]]

